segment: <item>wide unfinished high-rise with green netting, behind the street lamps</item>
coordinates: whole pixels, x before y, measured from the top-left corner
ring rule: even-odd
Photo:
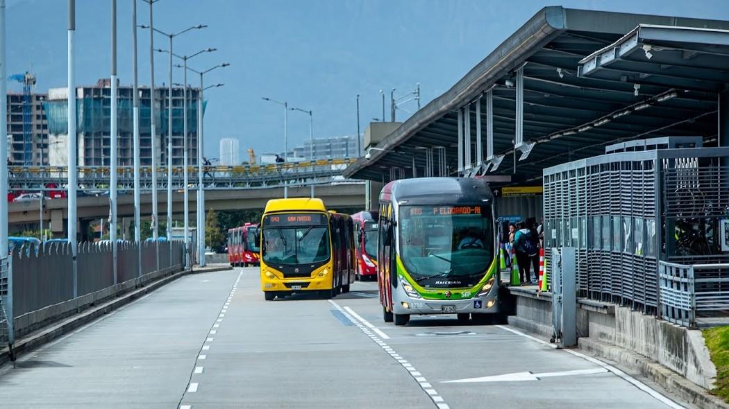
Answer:
[[[118,84],[118,83],[117,83]],[[155,127],[157,134],[157,164],[167,164],[168,87],[156,87]],[[183,164],[184,122],[183,89],[172,88],[172,163]],[[79,166],[109,166],[111,163],[111,80],[99,79],[93,86],[77,87],[77,135]],[[150,128],[150,89],[139,87],[139,138],[142,166],[152,164],[152,133]],[[188,89],[187,101],[187,160],[198,162],[198,88]],[[117,87],[117,154],[120,166],[133,165],[133,87]],[[203,103],[203,113],[204,113]],[[68,88],[48,90],[45,105],[48,116],[50,164],[68,163]]]

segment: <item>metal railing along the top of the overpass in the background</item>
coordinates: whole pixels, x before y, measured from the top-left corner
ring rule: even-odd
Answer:
[[[203,166],[203,184],[206,189],[249,188],[258,186],[278,186],[305,184],[331,180],[341,176],[344,169],[355,161],[354,158],[319,159],[315,161],[284,162],[265,165],[241,166]],[[54,190],[65,186],[68,180],[67,167],[20,167],[11,166],[9,189],[12,190]],[[109,167],[78,167],[79,188],[86,190],[109,188]],[[174,188],[184,186],[184,167],[172,168]],[[188,183],[197,184],[198,167],[187,169]],[[120,190],[131,190],[134,183],[134,167],[117,168]],[[160,187],[167,186],[168,168],[157,167]],[[140,168],[143,189],[152,186],[152,167]],[[48,187],[55,184],[55,187]]]

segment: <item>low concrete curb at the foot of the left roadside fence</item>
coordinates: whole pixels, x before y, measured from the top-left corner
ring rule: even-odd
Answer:
[[[93,320],[102,317],[105,314],[114,311],[115,309],[120,308],[121,306],[131,303],[132,301],[136,300],[136,298],[140,298],[147,293],[151,293],[152,291],[155,291],[158,288],[163,287],[164,285],[169,284],[176,279],[179,279],[180,277],[184,277],[188,274],[211,273],[216,271],[227,271],[231,269],[233,268],[230,266],[212,268],[203,267],[202,269],[194,271],[179,271],[177,273],[157,279],[153,282],[148,282],[144,287],[139,287],[136,290],[131,291],[130,293],[121,295],[119,298],[114,298],[113,300],[107,301],[106,303],[103,303],[99,306],[94,306],[90,309],[87,309],[86,311],[83,311],[82,313],[75,314],[74,316],[71,316],[67,319],[63,319],[61,322],[55,323],[55,325],[51,325],[50,327],[46,327],[43,330],[39,330],[35,333],[27,335],[20,340],[16,340],[14,348],[15,356],[17,357],[20,354],[31,352],[34,349],[37,349],[39,346],[48,344],[50,341],[53,341],[57,338],[61,338],[62,335],[66,335],[72,330],[75,330],[78,327],[81,327],[82,325],[85,325],[89,322],[92,322]],[[9,361],[9,349],[7,348],[7,346],[5,346],[4,348],[0,349],[0,365],[4,365]]]

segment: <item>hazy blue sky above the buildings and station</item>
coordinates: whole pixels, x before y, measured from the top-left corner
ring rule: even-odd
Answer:
[[[118,64],[131,84],[131,4],[117,0]],[[149,6],[136,0],[138,23]],[[77,0],[77,83],[109,77],[110,0]],[[175,40],[175,51],[217,52],[189,61],[197,69],[228,62],[206,78],[225,83],[209,90],[205,152],[218,156],[219,138],[241,140],[258,154],[283,150],[283,107],[261,100],[287,100],[313,110],[315,137],[356,134],[355,95],[361,124],[382,116],[379,90],[404,95],[421,83],[423,105],[448,90],[540,8],[537,0],[160,0],[155,27],[180,31],[207,24]],[[566,0],[582,9],[729,20],[728,0]],[[37,91],[66,86],[66,0],[7,0],[8,74],[32,70]],[[149,32],[139,31],[139,82],[149,83]],[[155,36],[155,47],[168,39]],[[182,82],[182,70],[174,71]],[[166,55],[155,57],[155,82],[167,82]],[[188,77],[197,85],[199,77]],[[20,90],[9,83],[9,90]],[[416,104],[403,108],[415,111]],[[387,109],[389,120],[389,108]],[[410,116],[398,111],[398,120]],[[289,112],[289,148],[308,138],[308,116]]]

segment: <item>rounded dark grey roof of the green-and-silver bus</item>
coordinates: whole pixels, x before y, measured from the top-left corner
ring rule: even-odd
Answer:
[[[483,178],[414,178],[395,180],[391,186],[393,202],[475,204],[493,199],[494,194]]]

